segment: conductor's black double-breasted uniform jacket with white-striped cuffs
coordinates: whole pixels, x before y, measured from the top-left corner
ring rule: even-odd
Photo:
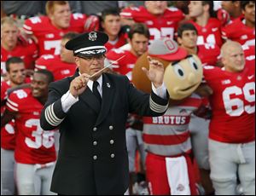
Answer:
[[[124,76],[102,74],[102,105],[89,88],[67,113],[61,96],[76,72],[50,84],[41,114],[44,130],[59,128],[60,148],[50,190],[60,194],[124,194],[129,182],[125,123],[128,112],[160,116],[168,100],[144,94]]]

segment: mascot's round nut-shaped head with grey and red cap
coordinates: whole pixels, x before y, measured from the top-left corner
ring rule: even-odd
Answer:
[[[196,55],[188,55],[170,38],[154,40],[148,52],[140,56],[132,71],[132,82],[144,92],[151,92],[151,83],[142,67],[148,69],[147,56],[158,60],[165,66],[164,82],[172,100],[182,100],[191,95],[201,84],[202,66]]]

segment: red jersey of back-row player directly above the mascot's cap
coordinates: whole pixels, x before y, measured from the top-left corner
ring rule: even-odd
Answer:
[[[184,19],[183,12],[177,8],[166,9],[163,15],[155,16],[141,6],[139,8],[123,9],[120,15],[124,18],[131,18],[135,22],[146,24],[150,32],[150,40],[161,37],[174,38],[178,22]]]

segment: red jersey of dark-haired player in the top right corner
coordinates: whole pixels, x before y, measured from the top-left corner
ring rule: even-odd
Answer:
[[[238,43],[255,45],[255,28],[250,28],[243,23],[243,18],[238,18],[230,22],[222,29],[222,37]]]

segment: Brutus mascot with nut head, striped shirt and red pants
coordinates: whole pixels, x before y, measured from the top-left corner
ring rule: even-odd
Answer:
[[[193,94],[201,84],[201,61],[195,55],[187,55],[170,38],[154,40],[132,72],[133,83],[145,92],[150,92],[152,85],[142,71],[142,67],[148,68],[147,56],[165,66],[164,82],[170,96],[169,108],[163,116],[143,118],[149,191],[196,195],[189,121],[191,113],[201,106],[201,97]]]

